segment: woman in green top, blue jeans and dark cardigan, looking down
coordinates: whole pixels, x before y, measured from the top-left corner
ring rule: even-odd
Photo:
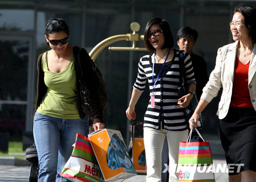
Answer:
[[[85,49],[68,45],[69,27],[63,19],[48,20],[44,37],[51,50],[38,57],[37,65],[33,134],[40,168],[38,182],[64,182],[68,180],[60,173],[72,154],[76,134],[87,136],[89,131],[87,117],[81,108],[81,96],[77,94],[80,91],[79,71],[84,71],[90,87],[90,73],[96,65]],[[95,130],[105,126],[103,110],[94,118]]]

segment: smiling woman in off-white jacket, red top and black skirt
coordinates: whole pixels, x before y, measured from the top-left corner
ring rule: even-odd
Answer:
[[[236,165],[230,182],[256,179],[256,9],[236,7],[230,30],[235,43],[218,49],[216,65],[192,115],[190,128],[198,127],[199,114],[223,87],[217,115],[227,164]]]

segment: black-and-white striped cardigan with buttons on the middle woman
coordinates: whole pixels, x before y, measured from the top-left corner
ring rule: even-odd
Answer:
[[[151,100],[149,100],[143,127],[160,129],[160,122],[162,122],[161,129],[173,131],[187,129],[183,108],[180,108],[177,104],[180,98],[178,96],[178,88],[180,86],[180,53],[183,53],[187,82],[196,83],[194,68],[189,54],[186,51],[174,49],[171,67],[161,74],[161,77],[159,77],[154,86],[155,108],[151,107]],[[143,92],[148,80],[150,93],[152,92],[152,54],[140,58],[138,76],[133,86],[138,91]],[[157,76],[154,71],[154,81]]]

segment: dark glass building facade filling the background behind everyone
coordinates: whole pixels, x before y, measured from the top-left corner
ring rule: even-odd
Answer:
[[[50,17],[62,17],[70,26],[70,45],[90,52],[100,41],[117,34],[131,33],[131,22],[138,22],[143,34],[152,17],[169,22],[175,39],[182,26],[198,31],[193,52],[207,62],[208,74],[215,66],[217,49],[231,43],[229,22],[236,5],[256,7],[254,1],[232,0],[2,0],[0,2],[0,123],[20,121],[22,131],[32,131],[36,97],[36,60],[49,50],[44,38],[44,25]],[[131,46],[119,41],[111,46]],[[144,47],[143,41],[137,43]],[[106,80],[109,103],[105,110],[107,128],[120,130],[128,136],[125,115],[132,85],[137,77],[140,57],[148,51],[110,51],[96,58],[96,64]],[[137,121],[143,122],[148,104],[146,89],[136,105]],[[219,96],[203,112],[205,132],[218,134],[215,115]],[[16,114],[12,114],[15,111]],[[8,117],[12,115],[12,119]],[[204,132],[203,131],[203,132]]]

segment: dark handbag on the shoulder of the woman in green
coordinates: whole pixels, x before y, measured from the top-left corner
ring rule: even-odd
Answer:
[[[79,77],[81,109],[87,117],[102,115],[108,103],[108,94],[103,75],[91,60],[87,51],[74,46]]]

